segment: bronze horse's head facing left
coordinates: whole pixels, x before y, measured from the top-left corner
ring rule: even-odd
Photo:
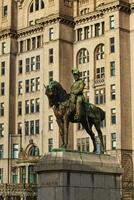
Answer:
[[[50,84],[46,86],[45,94],[48,97],[50,107],[53,107],[58,103],[57,89],[58,89],[57,81],[51,81]]]

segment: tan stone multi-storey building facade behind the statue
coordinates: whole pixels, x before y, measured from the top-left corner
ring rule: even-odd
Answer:
[[[133,11],[134,0],[0,1],[1,199],[36,199],[34,165],[60,144],[44,85],[69,92],[74,67],[87,100],[106,112],[106,152],[124,168],[123,199],[133,199]],[[69,148],[92,151],[79,124],[69,131]]]

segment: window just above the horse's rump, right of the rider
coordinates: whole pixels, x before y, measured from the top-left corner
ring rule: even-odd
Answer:
[[[104,104],[106,99],[105,89],[99,89],[95,91],[95,104]]]

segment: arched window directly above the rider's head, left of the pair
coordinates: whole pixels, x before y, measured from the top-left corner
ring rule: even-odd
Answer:
[[[89,52],[87,49],[81,49],[78,52],[78,64],[84,64],[89,62]]]

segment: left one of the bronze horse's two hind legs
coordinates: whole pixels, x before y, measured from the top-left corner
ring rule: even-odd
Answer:
[[[82,123],[82,126],[91,137],[91,140],[93,142],[93,147],[94,147],[93,153],[95,153],[97,151],[97,147],[96,147],[95,134],[92,131],[92,124],[86,121]]]

